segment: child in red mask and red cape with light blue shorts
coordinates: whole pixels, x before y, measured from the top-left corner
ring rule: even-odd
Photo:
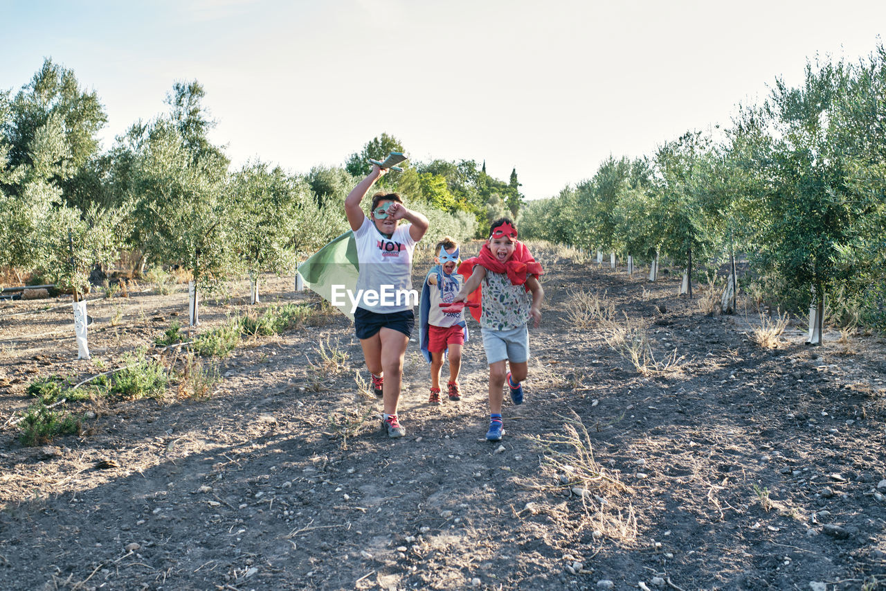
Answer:
[[[483,348],[489,364],[490,421],[486,439],[501,441],[502,387],[508,382],[511,401],[523,404],[523,382],[528,372],[529,331],[527,322],[538,327],[541,300],[539,283],[543,273],[525,245],[517,240],[517,228],[508,217],[495,220],[489,240],[479,256],[464,261],[458,272],[470,275],[454,302],[479,302],[470,313],[480,323]],[[510,372],[508,372],[510,366]]]

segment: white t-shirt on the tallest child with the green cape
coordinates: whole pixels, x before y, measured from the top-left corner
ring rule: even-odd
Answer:
[[[417,292],[412,290],[412,252],[416,240],[409,235],[411,224],[398,225],[391,238],[385,238],[369,217],[354,230],[357,241],[357,260],[360,275],[357,277],[358,305],[369,311],[386,314],[412,310],[418,303]]]

